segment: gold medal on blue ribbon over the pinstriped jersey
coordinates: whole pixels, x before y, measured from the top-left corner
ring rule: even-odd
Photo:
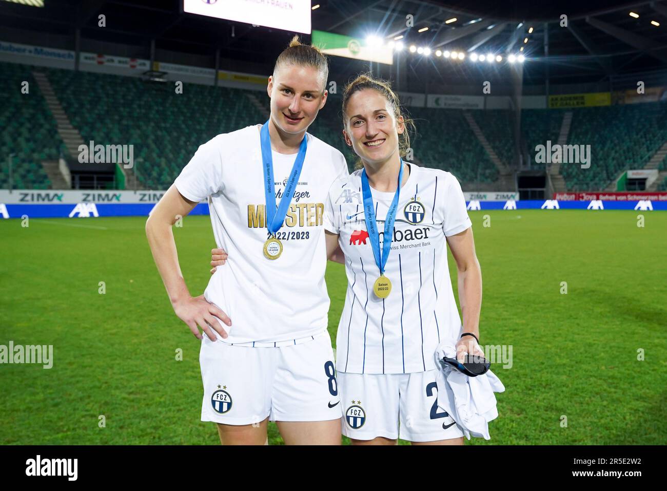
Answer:
[[[368,238],[371,241],[373,257],[376,265],[380,269],[380,277],[376,279],[373,285],[373,291],[377,297],[386,299],[392,293],[392,282],[384,275],[384,267],[387,264],[389,253],[392,251],[392,237],[394,236],[394,220],[396,219],[396,210],[398,209],[398,198],[401,192],[401,182],[403,180],[403,159],[401,159],[401,168],[398,171],[398,186],[394,194],[394,200],[387,211],[387,218],[384,220],[384,234],[382,251],[380,251],[380,233],[376,222],[375,207],[373,206],[373,195],[371,186],[368,184],[366,169],[362,170],[362,192],[364,193],[364,218],[366,219],[366,228]]]

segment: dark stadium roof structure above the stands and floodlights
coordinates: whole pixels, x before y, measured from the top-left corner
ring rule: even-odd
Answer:
[[[275,60],[276,46],[289,40],[287,31],[183,13],[181,4],[182,0],[44,0],[44,7],[35,8],[0,1],[0,25],[67,35],[78,29],[82,37],[101,42],[145,46],[154,40],[161,49],[209,56],[221,49],[227,59],[251,58],[267,64]],[[403,35],[404,42],[434,51],[477,50],[506,56],[524,47],[523,54],[530,61],[527,65],[531,65],[524,76],[534,81],[547,73],[554,81],[568,83],[667,68],[667,0],[564,0],[557,4],[534,0],[313,0],[312,4],[319,4],[312,11],[312,27],[322,31],[353,37],[378,35],[387,40]],[[630,16],[631,11],[638,17]],[[107,17],[104,29],[97,26],[100,13]],[[560,25],[563,14],[568,16],[567,27]],[[406,26],[407,15],[413,15],[412,27]],[[447,22],[453,18],[456,21]],[[410,63],[416,70],[422,62],[436,61],[433,57],[418,59],[416,53],[412,56]],[[334,63],[352,62],[356,61]],[[471,63],[463,65],[456,76],[464,77],[474,69]]]

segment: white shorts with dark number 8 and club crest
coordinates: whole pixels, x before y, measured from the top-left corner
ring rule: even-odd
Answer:
[[[324,331],[276,347],[201,340],[201,421],[230,425],[342,416],[331,338]]]

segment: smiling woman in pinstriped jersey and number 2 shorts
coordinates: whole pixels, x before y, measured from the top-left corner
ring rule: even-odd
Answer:
[[[450,172],[404,162],[412,121],[385,81],[350,82],[343,116],[346,143],[362,162],[331,186],[324,212],[329,250],[339,245],[348,277],[336,337],[341,399],[352,401],[343,434],[356,445],[462,445],[465,422],[439,407],[447,387],[434,361],[440,343],[456,345],[459,361],[484,354],[482,273],[461,186]]]

